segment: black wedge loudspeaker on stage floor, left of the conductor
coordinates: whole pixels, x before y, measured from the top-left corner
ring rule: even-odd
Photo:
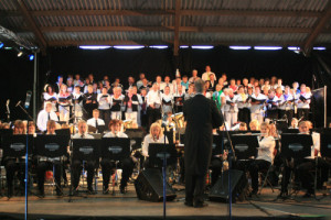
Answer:
[[[147,201],[162,201],[163,200],[163,178],[159,169],[142,170],[135,182],[137,197]],[[177,195],[171,186],[166,185],[167,201],[173,200]]]

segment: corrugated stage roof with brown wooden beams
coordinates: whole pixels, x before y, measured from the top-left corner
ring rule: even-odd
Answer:
[[[1,0],[0,41],[77,45],[331,45],[331,0]]]

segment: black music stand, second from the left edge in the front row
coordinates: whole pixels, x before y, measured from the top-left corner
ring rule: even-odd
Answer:
[[[46,135],[46,134],[38,135],[36,139],[34,140],[35,155],[51,157],[51,158],[62,157],[67,152],[68,142],[70,142],[70,136],[67,135]],[[62,162],[60,163],[62,164]],[[54,170],[54,163],[53,163],[53,170]],[[53,172],[53,178],[54,176],[55,175]],[[61,189],[60,186],[57,187]]]

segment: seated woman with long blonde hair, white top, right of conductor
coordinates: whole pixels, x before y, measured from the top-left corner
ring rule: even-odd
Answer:
[[[258,170],[269,167],[274,161],[276,142],[270,134],[269,124],[266,122],[261,123],[260,132],[261,135],[258,138],[257,157],[248,167],[253,188],[250,195],[256,195],[258,190]]]

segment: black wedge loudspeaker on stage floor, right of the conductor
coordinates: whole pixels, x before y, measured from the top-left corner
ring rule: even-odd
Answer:
[[[231,194],[232,201],[237,199],[244,200],[247,190],[247,179],[242,170],[231,169]],[[223,178],[220,176],[216,184],[210,190],[210,200],[214,201],[228,201],[228,170],[223,173]]]

